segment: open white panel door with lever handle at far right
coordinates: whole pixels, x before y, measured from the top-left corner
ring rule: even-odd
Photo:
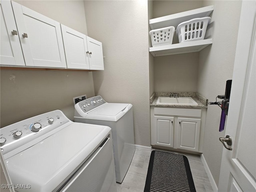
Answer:
[[[218,191],[256,191],[256,1],[243,1]]]

